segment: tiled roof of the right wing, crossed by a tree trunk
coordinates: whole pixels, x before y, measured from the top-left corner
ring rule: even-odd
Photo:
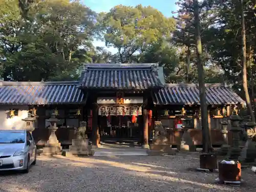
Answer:
[[[245,101],[223,84],[205,84],[207,104],[237,104]],[[197,84],[165,84],[152,94],[154,104],[200,104]]]

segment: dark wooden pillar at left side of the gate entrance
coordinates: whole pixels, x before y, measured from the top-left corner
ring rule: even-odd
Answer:
[[[92,108],[92,144],[98,146],[99,144],[99,126],[98,126],[98,105],[93,104]]]

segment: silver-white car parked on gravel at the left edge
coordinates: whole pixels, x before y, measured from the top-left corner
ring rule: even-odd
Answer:
[[[36,145],[26,130],[0,130],[0,171],[22,170],[29,172],[36,163]]]

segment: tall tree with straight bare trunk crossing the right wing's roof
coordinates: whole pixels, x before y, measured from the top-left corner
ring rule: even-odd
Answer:
[[[206,62],[207,53],[204,53],[206,58],[203,57],[202,51],[202,40],[201,40],[201,23],[200,16],[204,14],[204,2],[199,5],[197,0],[179,0],[177,4],[180,7],[178,11],[181,18],[185,18],[185,25],[189,24],[189,28],[183,27],[178,29],[176,41],[189,47],[189,57],[190,49],[193,48],[193,44],[196,46],[196,65],[198,73],[198,84],[199,84],[199,95],[200,95],[200,109],[201,109],[201,122],[202,122],[202,138],[203,138],[203,152],[210,152],[213,150],[210,141],[210,132],[207,117],[207,105],[206,105],[206,95],[205,95],[205,72],[204,72],[204,62]],[[206,18],[206,17],[203,17]],[[184,21],[184,19],[183,19]],[[183,22],[184,23],[184,22]],[[190,38],[183,38],[179,34],[182,31],[186,31]],[[194,36],[194,37],[193,37]],[[190,65],[190,61],[189,61]]]

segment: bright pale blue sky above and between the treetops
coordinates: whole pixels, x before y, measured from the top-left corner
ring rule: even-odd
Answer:
[[[172,11],[177,10],[175,5],[177,0],[82,0],[82,3],[90,7],[95,12],[107,12],[116,5],[136,6],[152,6],[161,11],[165,16],[172,16]],[[95,40],[94,46],[104,47],[104,42]],[[115,53],[117,50],[114,48],[107,48],[107,50]]]

